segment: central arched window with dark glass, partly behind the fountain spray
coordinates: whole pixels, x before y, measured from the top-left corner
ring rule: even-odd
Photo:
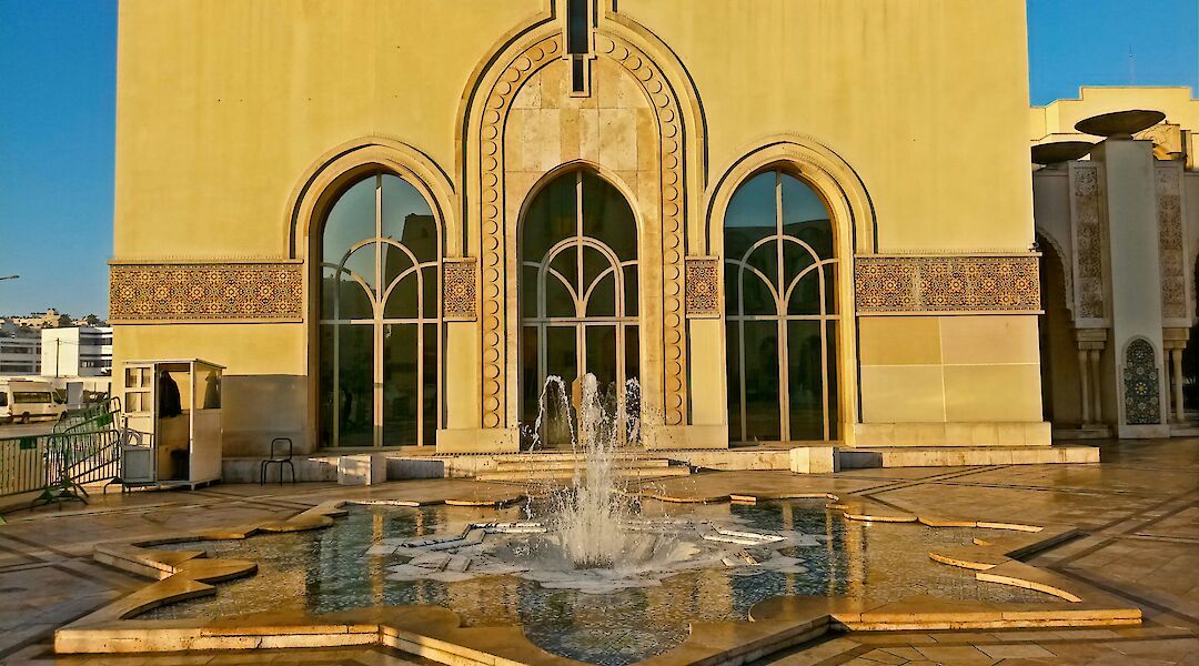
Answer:
[[[542,188],[520,231],[520,402],[537,418],[546,379],[567,386],[591,373],[623,410],[638,376],[637,220],[610,183],[578,170]],[[620,412],[620,413],[623,413]],[[542,443],[570,434],[542,432]]]

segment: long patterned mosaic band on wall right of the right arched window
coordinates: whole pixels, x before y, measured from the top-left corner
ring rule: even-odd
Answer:
[[[861,314],[1040,313],[1037,255],[858,256]]]

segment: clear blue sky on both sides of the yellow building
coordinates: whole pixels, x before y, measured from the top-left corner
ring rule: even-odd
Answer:
[[[1034,104],[1079,85],[1199,87],[1199,0],[1028,8]],[[0,280],[0,314],[107,313],[115,52],[115,0],[0,0],[0,276],[22,276]]]

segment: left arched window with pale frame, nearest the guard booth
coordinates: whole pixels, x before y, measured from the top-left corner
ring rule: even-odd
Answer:
[[[374,172],[329,210],[320,254],[320,444],[433,444],[441,231],[411,183]]]

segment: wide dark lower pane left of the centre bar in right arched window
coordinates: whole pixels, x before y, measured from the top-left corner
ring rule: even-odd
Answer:
[[[745,322],[745,383],[747,441],[778,441],[782,419],[778,392],[778,323]]]

